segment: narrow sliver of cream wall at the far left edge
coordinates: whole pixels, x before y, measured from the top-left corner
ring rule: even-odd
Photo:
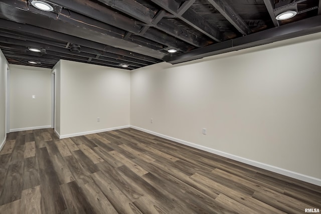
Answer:
[[[9,64],[0,50],[0,150],[6,142],[6,111],[7,111],[7,68]]]

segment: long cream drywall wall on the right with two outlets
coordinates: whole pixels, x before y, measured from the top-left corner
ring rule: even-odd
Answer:
[[[130,124],[321,183],[319,38],[137,69]]]

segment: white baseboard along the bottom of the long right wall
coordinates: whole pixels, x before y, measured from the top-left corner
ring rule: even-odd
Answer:
[[[197,148],[197,149],[200,149],[200,150],[203,150],[203,151],[207,151],[207,152],[210,152],[210,153],[213,153],[213,154],[217,154],[217,155],[220,155],[220,156],[223,156],[223,157],[230,158],[232,160],[236,160],[236,161],[239,161],[239,162],[242,162],[242,163],[246,163],[246,164],[249,164],[249,165],[252,165],[252,166],[256,166],[256,167],[262,168],[262,169],[266,169],[268,171],[276,172],[276,173],[279,173],[279,174],[282,174],[282,175],[285,175],[285,176],[288,176],[288,177],[292,177],[292,178],[295,178],[295,179],[298,179],[298,180],[302,180],[302,181],[305,181],[305,182],[308,182],[308,183],[312,183],[312,184],[321,186],[321,179],[316,178],[316,177],[311,177],[311,176],[308,176],[308,175],[304,175],[304,174],[300,174],[300,173],[297,173],[297,172],[294,172],[294,171],[283,169],[283,168],[280,168],[280,167],[277,167],[277,166],[272,166],[272,165],[261,163],[261,162],[255,161],[255,160],[250,160],[250,159],[247,159],[247,158],[244,158],[244,157],[240,157],[240,156],[237,156],[237,155],[229,154],[229,153],[226,153],[226,152],[223,152],[223,151],[219,151],[219,150],[212,149],[212,148],[209,148],[209,147],[206,147],[206,146],[202,146],[202,145],[191,143],[191,142],[188,142],[188,141],[185,141],[185,140],[181,140],[181,139],[177,139],[177,138],[174,138],[174,137],[170,137],[170,136],[167,136],[167,135],[164,135],[164,134],[159,134],[157,132],[153,132],[153,131],[150,131],[150,130],[147,130],[147,129],[139,128],[139,127],[136,127],[136,126],[130,126],[130,128],[137,129],[139,131],[143,131],[143,132],[146,132],[146,133],[149,133],[149,134],[152,134],[152,135],[156,135],[158,137],[162,137],[162,138],[165,138],[165,139],[168,139],[168,140],[172,140],[172,141],[175,141],[175,142],[178,142],[178,143],[181,143],[181,144],[193,147],[193,148]]]

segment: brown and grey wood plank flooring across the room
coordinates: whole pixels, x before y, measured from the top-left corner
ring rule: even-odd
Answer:
[[[0,152],[3,213],[304,213],[321,186],[134,129],[58,139],[13,132]]]

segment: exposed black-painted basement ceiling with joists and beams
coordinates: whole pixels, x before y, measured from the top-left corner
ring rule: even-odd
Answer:
[[[10,64],[52,68],[64,59],[133,70],[321,31],[321,0],[41,0],[52,12],[32,2],[0,0]],[[288,10],[297,15],[275,19]]]

